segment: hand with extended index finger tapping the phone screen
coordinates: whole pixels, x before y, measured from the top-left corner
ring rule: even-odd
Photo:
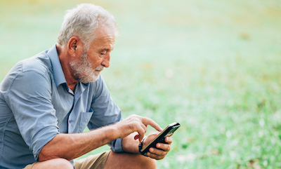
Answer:
[[[134,139],[138,139],[140,142],[141,140],[143,140],[143,137],[148,130],[148,125],[152,126],[158,131],[162,131],[162,128],[160,128],[160,126],[155,123],[155,121],[152,121],[152,119],[137,115],[131,115],[123,121],[119,121],[115,124],[119,131],[118,133],[120,138],[124,138],[131,133],[138,132],[138,135],[136,135]]]

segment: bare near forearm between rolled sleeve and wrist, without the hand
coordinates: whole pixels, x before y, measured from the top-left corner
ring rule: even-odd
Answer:
[[[39,154],[39,161],[52,158],[72,160],[118,138],[114,126],[91,130],[88,133],[58,134]]]

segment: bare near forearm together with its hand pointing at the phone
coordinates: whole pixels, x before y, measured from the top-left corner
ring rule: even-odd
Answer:
[[[58,134],[41,149],[39,161],[51,158],[71,160],[117,138],[131,138],[131,133],[135,131],[138,132],[139,140],[142,140],[148,125],[161,130],[155,121],[132,115],[114,125],[91,130],[89,133]]]

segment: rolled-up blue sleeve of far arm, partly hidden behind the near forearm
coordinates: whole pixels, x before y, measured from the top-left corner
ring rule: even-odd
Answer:
[[[90,130],[122,121],[122,111],[110,97],[103,76],[100,75],[96,84],[96,92],[91,104],[93,115],[88,125]],[[112,151],[123,152],[122,139],[114,140],[109,144]]]

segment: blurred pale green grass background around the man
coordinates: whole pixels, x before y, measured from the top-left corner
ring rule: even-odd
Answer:
[[[103,76],[124,118],[181,123],[158,168],[281,168],[280,0],[0,0],[0,81],[82,2],[122,30]]]

